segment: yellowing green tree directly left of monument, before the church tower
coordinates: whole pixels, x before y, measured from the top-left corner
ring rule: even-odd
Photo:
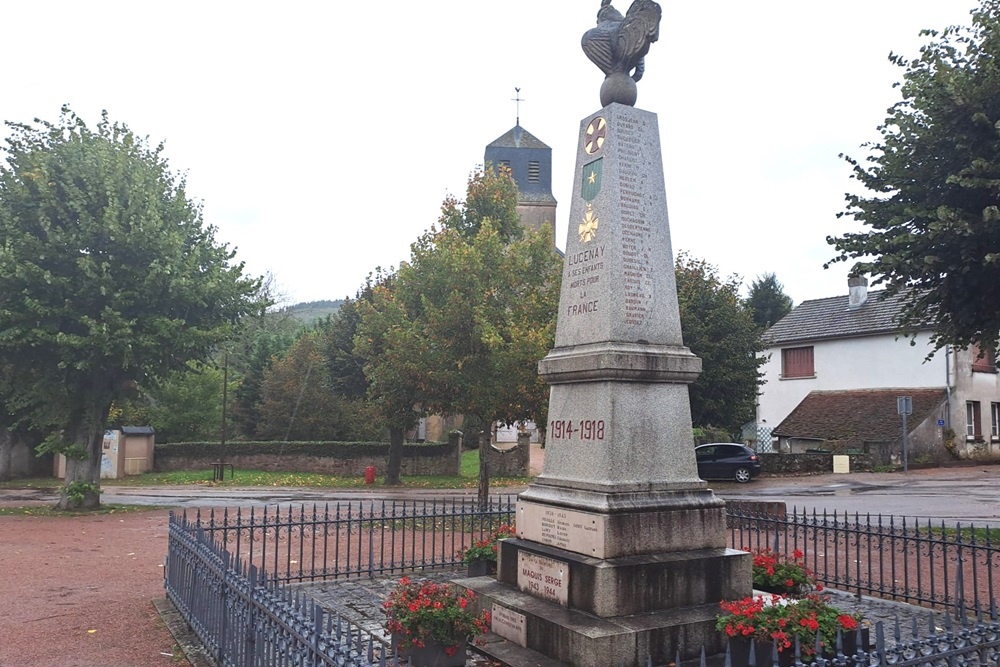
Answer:
[[[443,215],[443,228],[424,234],[410,264],[400,269],[400,299],[422,335],[437,345],[425,367],[433,371],[426,387],[431,410],[474,415],[480,423],[544,419],[548,388],[538,377],[538,361],[554,341],[562,264],[551,230],[521,229],[516,195],[508,171],[477,171],[462,215]],[[486,213],[477,206],[486,206]],[[450,208],[445,202],[446,213]],[[479,456],[481,503],[489,495],[486,437]]]

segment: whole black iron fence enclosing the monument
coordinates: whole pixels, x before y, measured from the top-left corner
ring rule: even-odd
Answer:
[[[515,500],[496,498],[488,508],[428,500],[172,515],[167,595],[223,667],[396,664],[384,636],[288,584],[455,568],[463,549],[513,522]],[[988,531],[739,505],[729,507],[728,521],[731,546],[801,550],[828,586],[949,610],[922,628],[914,621],[909,638],[899,622],[888,631],[877,623],[870,651],[813,662],[793,656],[797,667],[1000,664],[1000,553]],[[726,665],[740,667],[731,657]]]

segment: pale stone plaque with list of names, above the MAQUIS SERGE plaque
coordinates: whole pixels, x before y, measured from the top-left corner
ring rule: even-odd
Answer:
[[[603,514],[517,503],[517,536],[595,558],[604,558]]]

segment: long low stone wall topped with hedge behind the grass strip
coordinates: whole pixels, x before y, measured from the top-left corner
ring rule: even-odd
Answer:
[[[281,445],[284,445],[283,447]],[[209,470],[215,461],[244,470],[306,472],[340,477],[362,477],[374,466],[385,474],[389,445],[383,443],[175,443],[157,445],[154,469]],[[456,444],[420,444],[403,447],[402,474],[457,476],[461,449]]]

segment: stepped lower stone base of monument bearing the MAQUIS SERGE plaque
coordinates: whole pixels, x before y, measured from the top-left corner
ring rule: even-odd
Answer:
[[[575,667],[644,667],[724,651],[719,602],[751,594],[751,567],[727,548],[593,558],[512,538],[496,580],[456,583],[509,642]]]

